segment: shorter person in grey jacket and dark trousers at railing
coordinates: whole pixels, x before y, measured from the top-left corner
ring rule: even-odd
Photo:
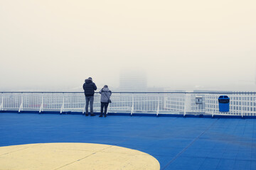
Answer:
[[[108,86],[105,85],[99,93],[101,94],[100,96],[100,117],[103,116],[103,108],[104,108],[104,117],[107,117],[107,106],[109,103],[111,103],[110,96],[112,94],[112,91],[108,89]]]

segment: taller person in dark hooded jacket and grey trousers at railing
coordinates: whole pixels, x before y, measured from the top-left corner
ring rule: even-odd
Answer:
[[[93,100],[94,100],[94,94],[95,90],[97,90],[97,86],[94,82],[92,82],[92,77],[89,77],[88,79],[85,79],[85,83],[83,84],[82,88],[85,91],[85,115],[88,115],[88,106],[90,103],[90,115],[95,115],[93,113]]]

